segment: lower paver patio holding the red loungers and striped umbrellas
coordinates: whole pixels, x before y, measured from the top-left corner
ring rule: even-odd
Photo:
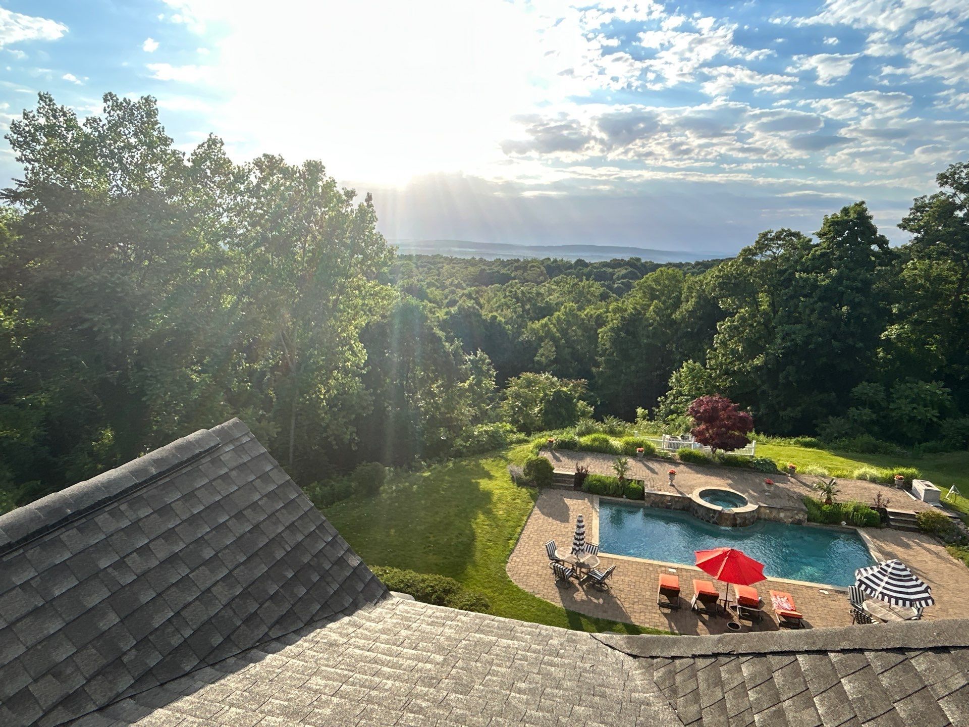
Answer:
[[[689,599],[693,596],[692,580],[709,580],[709,576],[693,566],[601,553],[602,568],[613,563],[617,565],[609,590],[600,591],[574,582],[568,585],[556,583],[548,568],[545,543],[555,539],[560,547],[567,548],[572,542],[579,514],[586,518],[587,539],[598,543],[596,495],[554,488],[539,494],[507,564],[508,574],[517,585],[551,603],[588,616],[611,618],[680,634],[722,633],[727,630],[726,617],[701,616],[689,610]],[[969,574],[965,566],[946,553],[942,545],[921,533],[888,528],[868,528],[865,533],[871,539],[873,549],[878,551],[873,553],[876,557],[900,558],[925,583],[931,585],[936,605],[925,610],[924,618],[965,616],[965,604],[969,603]],[[682,588],[683,603],[678,611],[660,609],[656,604],[659,573],[666,573],[671,567],[675,568]],[[775,579],[767,579],[756,587],[766,601],[766,614],[760,623],[753,625],[754,630],[777,628],[767,594],[769,589],[791,593],[808,626],[851,623],[848,599],[843,589]],[[749,628],[748,622],[744,621],[744,630]]]

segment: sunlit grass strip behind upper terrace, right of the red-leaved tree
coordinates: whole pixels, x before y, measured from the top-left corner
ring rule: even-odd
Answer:
[[[955,489],[961,494],[956,495],[955,503],[946,504],[963,513],[969,513],[969,452],[947,452],[918,459],[905,459],[888,455],[815,450],[787,444],[758,444],[757,455],[773,459],[781,468],[786,467],[788,462],[794,462],[798,467],[824,467],[831,477],[852,477],[855,470],[864,465],[884,468],[916,467],[922,472],[922,479],[929,480],[937,488],[948,491],[955,485]]]

